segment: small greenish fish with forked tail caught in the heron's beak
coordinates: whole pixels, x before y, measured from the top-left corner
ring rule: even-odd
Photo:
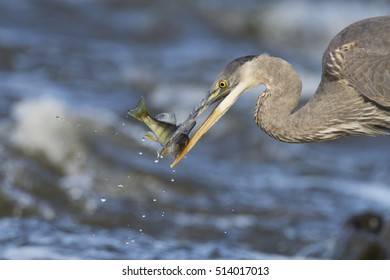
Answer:
[[[168,140],[170,140],[176,130],[181,127],[180,125],[176,125],[176,116],[174,114],[161,113],[155,117],[150,116],[147,112],[143,97],[141,97],[141,100],[135,108],[128,111],[128,114],[149,127],[152,134],[145,134],[145,138],[158,142],[163,147],[157,152],[157,158],[163,157],[168,153],[171,153],[177,158],[189,143],[189,133],[196,124],[195,122],[192,122],[187,125],[186,129],[182,128],[180,134],[176,135],[175,140],[167,145]]]

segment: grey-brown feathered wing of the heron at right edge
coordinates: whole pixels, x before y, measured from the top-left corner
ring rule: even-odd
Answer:
[[[323,57],[324,76],[344,80],[379,106],[390,108],[390,17],[358,21],[340,31]]]

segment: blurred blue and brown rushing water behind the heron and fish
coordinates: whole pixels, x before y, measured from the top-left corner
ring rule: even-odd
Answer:
[[[175,169],[127,117],[183,121],[232,59],[316,89],[378,1],[0,1],[1,259],[390,258],[389,138],[284,144],[248,93]],[[207,113],[205,114],[207,115]]]

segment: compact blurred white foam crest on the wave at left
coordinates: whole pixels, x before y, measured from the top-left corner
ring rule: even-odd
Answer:
[[[54,98],[21,101],[12,111],[11,140],[26,153],[43,155],[57,166],[75,158],[79,161],[84,148],[69,125],[68,112],[65,103]]]

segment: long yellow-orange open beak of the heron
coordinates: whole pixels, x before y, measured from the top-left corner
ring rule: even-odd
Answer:
[[[218,89],[210,93],[207,98],[204,106],[209,106],[214,102],[223,99],[217,107],[214,108],[210,116],[205,120],[205,122],[200,126],[196,131],[194,136],[190,139],[190,142],[181,152],[181,154],[175,159],[171,164],[173,168],[179,161],[195,146],[195,144],[200,140],[200,138],[229,110],[231,106],[237,101],[240,94],[243,92],[243,89],[240,87],[235,87],[233,89]]]

